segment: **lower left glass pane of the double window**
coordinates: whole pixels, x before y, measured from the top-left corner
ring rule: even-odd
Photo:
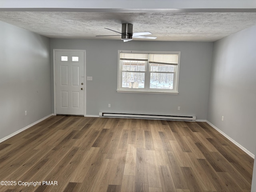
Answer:
[[[122,72],[122,88],[144,88],[145,73]]]

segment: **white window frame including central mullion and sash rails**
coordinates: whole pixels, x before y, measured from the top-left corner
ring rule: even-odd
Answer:
[[[120,62],[120,53],[134,53],[134,54],[178,54],[178,64],[175,66],[175,72],[173,73],[173,89],[153,89],[150,88],[150,74],[154,71],[150,71],[150,63],[147,61],[145,66],[145,80],[144,88],[123,88],[122,87],[122,64]],[[130,72],[130,71],[128,71]],[[137,72],[137,71],[132,71]],[[140,71],[139,71],[140,72]],[[157,73],[166,73],[166,72],[157,72]],[[179,82],[179,73],[180,73],[180,51],[129,51],[129,50],[118,50],[118,74],[117,74],[117,92],[129,92],[129,93],[155,93],[155,94],[178,94],[178,82]],[[146,79],[147,77],[147,79]]]

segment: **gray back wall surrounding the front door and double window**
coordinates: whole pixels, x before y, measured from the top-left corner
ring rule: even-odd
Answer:
[[[135,112],[196,115],[197,119],[206,119],[212,43],[51,39],[51,49],[86,50],[86,76],[93,77],[93,81],[86,82],[87,115]],[[118,50],[181,51],[179,94],[116,92]]]

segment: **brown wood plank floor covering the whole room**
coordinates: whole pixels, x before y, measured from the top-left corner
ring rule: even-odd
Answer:
[[[1,192],[250,192],[254,160],[205,122],[51,116],[0,143]]]

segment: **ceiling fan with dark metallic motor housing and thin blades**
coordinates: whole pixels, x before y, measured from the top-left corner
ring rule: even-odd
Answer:
[[[119,33],[120,35],[97,35],[96,37],[103,37],[103,36],[122,36],[122,40],[124,42],[126,41],[131,41],[132,38],[143,38],[143,39],[156,39],[156,37],[149,37],[149,36],[144,36],[144,35],[151,35],[152,33],[150,32],[136,32],[133,33],[132,32],[132,24],[130,23],[123,23],[122,24],[122,33],[112,30],[112,29],[108,29],[108,28],[104,28],[110,31],[114,31],[116,33]]]

